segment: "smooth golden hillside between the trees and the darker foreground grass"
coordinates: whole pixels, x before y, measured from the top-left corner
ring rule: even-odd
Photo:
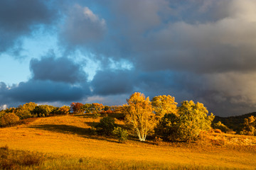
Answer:
[[[84,115],[65,115],[38,118],[29,125],[18,125],[0,129],[0,147],[30,150],[70,157],[91,157],[121,162],[149,162],[156,164],[183,164],[254,169],[256,167],[255,146],[223,147],[210,143],[175,144],[139,142],[129,140],[122,144],[114,138],[98,137],[88,133],[92,124],[100,119]],[[117,121],[120,125],[121,121]],[[213,135],[214,137],[214,135]]]

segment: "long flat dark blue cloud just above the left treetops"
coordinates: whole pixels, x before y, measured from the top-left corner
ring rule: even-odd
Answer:
[[[51,102],[51,101],[77,101],[90,94],[86,86],[70,86],[62,82],[29,80],[21,82],[9,89],[1,86],[1,96],[8,101],[14,102]],[[7,101],[7,102],[6,102]]]

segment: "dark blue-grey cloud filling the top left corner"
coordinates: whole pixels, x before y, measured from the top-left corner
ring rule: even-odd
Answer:
[[[15,46],[17,48],[18,40],[21,40],[22,36],[30,35],[36,26],[52,23],[56,15],[57,12],[49,8],[46,1],[2,0],[0,2],[0,52]]]

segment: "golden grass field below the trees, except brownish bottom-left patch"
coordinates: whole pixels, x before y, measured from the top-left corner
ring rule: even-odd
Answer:
[[[37,118],[27,125],[0,129],[0,147],[39,152],[43,164],[31,169],[255,169],[256,139],[213,133],[191,143],[119,143],[90,135],[100,121],[86,115]],[[119,125],[124,125],[116,120]],[[24,167],[26,169],[29,167]]]

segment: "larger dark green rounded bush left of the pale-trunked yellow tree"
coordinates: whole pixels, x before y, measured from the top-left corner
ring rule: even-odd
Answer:
[[[114,119],[110,117],[102,118],[100,123],[95,126],[97,129],[97,134],[104,136],[112,135],[115,127],[117,127],[117,125],[114,123]]]

